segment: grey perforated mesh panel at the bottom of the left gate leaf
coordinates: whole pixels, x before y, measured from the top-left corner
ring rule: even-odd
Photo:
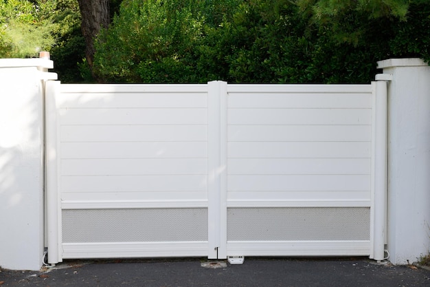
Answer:
[[[63,242],[207,241],[207,209],[63,210]]]

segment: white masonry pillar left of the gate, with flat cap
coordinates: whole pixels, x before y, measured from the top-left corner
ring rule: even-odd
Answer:
[[[43,79],[48,59],[0,59],[0,266],[39,270],[44,244]]]

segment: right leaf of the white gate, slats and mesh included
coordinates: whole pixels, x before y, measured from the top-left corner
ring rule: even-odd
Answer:
[[[372,86],[227,91],[226,255],[369,255]]]

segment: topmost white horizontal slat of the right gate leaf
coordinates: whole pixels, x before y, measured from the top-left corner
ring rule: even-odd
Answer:
[[[227,97],[229,108],[317,108],[317,109],[370,109],[372,94],[274,94],[262,92],[230,93]]]

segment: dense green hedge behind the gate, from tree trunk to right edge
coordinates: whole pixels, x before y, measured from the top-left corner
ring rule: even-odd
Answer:
[[[368,83],[376,61],[430,60],[427,1],[124,0],[96,43],[120,83]]]

